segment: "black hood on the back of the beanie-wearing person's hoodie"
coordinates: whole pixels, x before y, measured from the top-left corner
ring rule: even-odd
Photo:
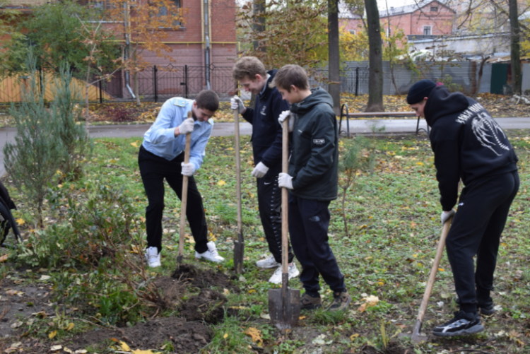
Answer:
[[[464,94],[450,93],[444,85],[440,85],[430,92],[423,112],[425,121],[432,126],[438,118],[462,112],[467,107],[469,107],[469,101]]]

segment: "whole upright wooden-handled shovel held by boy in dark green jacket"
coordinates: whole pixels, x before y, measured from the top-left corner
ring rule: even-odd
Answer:
[[[282,172],[288,172],[288,120],[283,121]],[[269,290],[269,315],[276,327],[284,331],[296,326],[300,317],[300,290],[289,289],[288,275],[288,191],[281,189],[281,289]]]

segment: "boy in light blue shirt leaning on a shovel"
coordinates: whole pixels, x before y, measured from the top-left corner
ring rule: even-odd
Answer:
[[[211,117],[218,107],[219,98],[211,90],[201,91],[195,100],[170,98],[160,108],[155,123],[143,135],[138,164],[149,202],[146,208],[146,260],[150,267],[160,266],[164,179],[181,199],[183,175],[189,177],[186,216],[195,240],[195,257],[214,262],[225,260],[219,256],[216,244],[208,242],[202,197],[193,177],[202,165],[213,127]],[[189,111],[193,118],[187,118]],[[187,133],[192,134],[192,143],[189,163],[184,163]]]

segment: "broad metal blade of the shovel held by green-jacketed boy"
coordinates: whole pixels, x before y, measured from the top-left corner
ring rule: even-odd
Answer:
[[[300,290],[269,290],[269,316],[272,324],[281,331],[296,326],[300,317]]]

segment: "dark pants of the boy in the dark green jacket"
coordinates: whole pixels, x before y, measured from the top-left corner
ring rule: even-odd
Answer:
[[[305,292],[317,295],[319,274],[334,293],[346,291],[344,276],[328,243],[329,201],[289,196],[289,235],[296,259],[302,265],[300,281]]]

